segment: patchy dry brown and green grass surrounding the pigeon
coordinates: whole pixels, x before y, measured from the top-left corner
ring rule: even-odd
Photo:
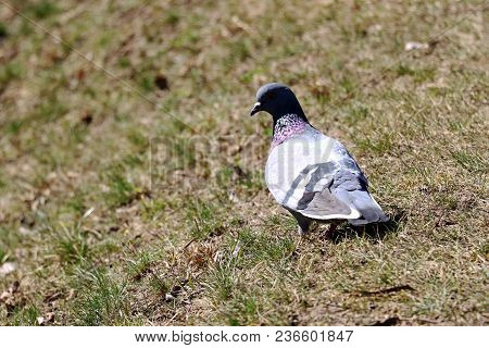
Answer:
[[[0,4],[0,324],[487,325],[482,4],[15,2],[117,80]],[[297,235],[248,116],[272,80],[386,228]]]

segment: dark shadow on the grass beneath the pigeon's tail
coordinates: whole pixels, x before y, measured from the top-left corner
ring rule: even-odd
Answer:
[[[372,243],[379,243],[387,236],[396,234],[402,223],[408,220],[408,213],[403,210],[397,210],[393,215],[389,216],[387,222],[368,224],[364,226],[353,226],[351,224],[342,224],[329,234],[326,239],[334,244],[340,244],[344,240],[364,238]]]

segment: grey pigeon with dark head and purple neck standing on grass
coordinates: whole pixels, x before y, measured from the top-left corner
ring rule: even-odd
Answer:
[[[279,83],[262,86],[250,112],[273,117],[273,139],[265,182],[277,202],[298,222],[299,233],[313,221],[352,225],[386,222],[355,160],[338,140],[314,128],[292,90]]]

